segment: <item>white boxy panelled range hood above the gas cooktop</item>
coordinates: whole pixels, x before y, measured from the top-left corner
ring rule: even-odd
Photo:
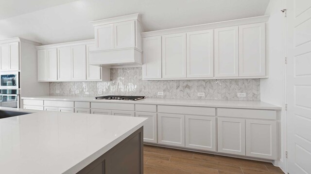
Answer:
[[[91,22],[95,29],[95,47],[89,64],[96,66],[142,65],[140,15],[130,14]]]

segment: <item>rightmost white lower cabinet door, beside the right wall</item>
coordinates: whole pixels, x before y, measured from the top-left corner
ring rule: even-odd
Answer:
[[[276,160],[276,121],[248,120],[246,128],[246,156]]]

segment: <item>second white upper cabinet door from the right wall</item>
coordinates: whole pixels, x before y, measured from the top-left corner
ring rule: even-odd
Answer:
[[[239,28],[214,29],[215,77],[239,76]]]

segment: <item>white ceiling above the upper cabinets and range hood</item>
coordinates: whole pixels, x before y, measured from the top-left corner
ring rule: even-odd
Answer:
[[[27,1],[27,2],[25,2]],[[140,13],[145,31],[264,15],[269,0],[0,0],[0,39],[94,38],[90,21]],[[4,5],[2,5],[4,4]]]

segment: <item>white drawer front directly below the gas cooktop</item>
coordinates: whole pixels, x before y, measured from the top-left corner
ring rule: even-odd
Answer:
[[[91,108],[134,111],[134,104],[91,102]]]

